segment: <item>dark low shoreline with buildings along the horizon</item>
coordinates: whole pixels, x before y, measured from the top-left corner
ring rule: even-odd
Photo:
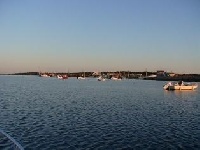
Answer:
[[[40,76],[40,72],[22,72],[22,73],[12,73],[12,74],[0,74],[0,75],[34,75]],[[67,75],[68,77],[79,77],[83,76],[83,72],[43,72],[42,74],[48,74],[51,77],[56,77],[57,75]],[[186,81],[186,82],[200,82],[200,74],[174,74],[173,76],[163,76],[159,75],[158,72],[131,72],[131,71],[115,71],[115,72],[101,72],[99,74],[94,74],[94,72],[84,72],[85,77],[98,77],[100,75],[106,75],[111,77],[116,74],[120,74],[122,78],[126,79],[141,79],[141,80],[156,80],[156,81]],[[152,75],[154,75],[152,77]]]

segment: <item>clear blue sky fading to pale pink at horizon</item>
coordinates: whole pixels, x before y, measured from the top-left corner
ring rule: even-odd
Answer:
[[[200,74],[199,0],[0,0],[0,73]]]

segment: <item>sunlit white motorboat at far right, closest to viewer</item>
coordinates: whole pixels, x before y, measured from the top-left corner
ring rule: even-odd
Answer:
[[[179,82],[168,82],[163,86],[165,90],[195,90],[197,89],[197,83],[186,83],[183,81]]]

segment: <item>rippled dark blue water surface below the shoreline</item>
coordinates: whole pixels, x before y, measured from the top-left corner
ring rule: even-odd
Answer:
[[[0,129],[24,149],[200,149],[200,90],[164,83],[0,76]]]

